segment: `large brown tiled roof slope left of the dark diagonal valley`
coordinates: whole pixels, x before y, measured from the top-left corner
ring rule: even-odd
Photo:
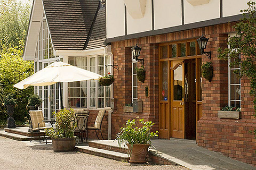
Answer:
[[[99,0],[43,0],[55,50],[84,50],[100,9]]]

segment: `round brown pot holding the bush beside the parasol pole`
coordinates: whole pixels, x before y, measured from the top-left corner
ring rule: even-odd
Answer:
[[[74,151],[75,146],[75,138],[52,138],[52,147],[54,152]]]

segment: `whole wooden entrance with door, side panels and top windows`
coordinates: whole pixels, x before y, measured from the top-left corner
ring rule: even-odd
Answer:
[[[196,40],[159,44],[159,138],[195,139],[202,116],[201,53]]]

